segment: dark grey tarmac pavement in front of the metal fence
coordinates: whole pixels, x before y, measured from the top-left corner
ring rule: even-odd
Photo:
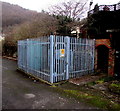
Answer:
[[[0,58],[2,64],[2,109],[94,109],[61,95],[53,87],[17,72],[17,61]]]

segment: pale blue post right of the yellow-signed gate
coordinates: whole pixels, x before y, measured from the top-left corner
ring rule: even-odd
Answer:
[[[66,80],[69,79],[70,38],[66,37]]]

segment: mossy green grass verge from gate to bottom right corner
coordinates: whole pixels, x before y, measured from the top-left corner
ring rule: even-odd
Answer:
[[[72,97],[80,102],[90,104],[100,109],[120,111],[120,105],[103,96],[98,91],[86,89],[84,86],[74,86],[70,83],[57,86],[55,89],[66,97]]]

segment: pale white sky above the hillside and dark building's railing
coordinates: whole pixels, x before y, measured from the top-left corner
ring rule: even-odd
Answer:
[[[17,4],[23,8],[41,12],[41,10],[47,10],[48,7],[50,7],[51,5],[55,5],[59,2],[69,1],[69,0],[1,0],[1,1],[8,2],[11,4]],[[91,0],[88,1],[88,7],[90,1]],[[98,5],[105,5],[105,4],[112,5],[118,2],[120,2],[120,0],[93,0],[92,8],[96,3],[98,3]]]

